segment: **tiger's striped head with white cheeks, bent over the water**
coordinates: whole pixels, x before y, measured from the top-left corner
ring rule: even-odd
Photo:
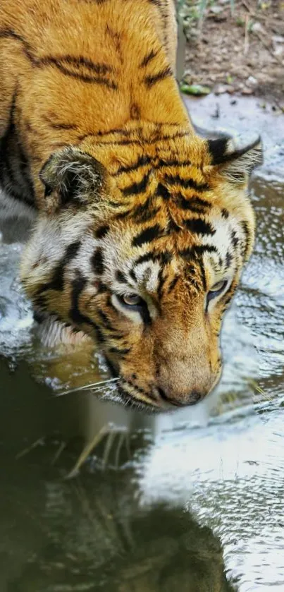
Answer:
[[[197,403],[221,375],[221,320],[254,243],[247,181],[259,138],[237,148],[135,133],[44,164],[46,213],[22,279],[36,309],[99,344],[121,401],[165,410]]]

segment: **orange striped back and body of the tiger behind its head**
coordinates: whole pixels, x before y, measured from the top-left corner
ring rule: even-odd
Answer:
[[[40,207],[39,170],[59,147],[129,119],[151,121],[153,112],[159,123],[187,121],[174,100],[175,33],[171,0],[142,0],[138,10],[128,1],[4,0],[2,186]]]

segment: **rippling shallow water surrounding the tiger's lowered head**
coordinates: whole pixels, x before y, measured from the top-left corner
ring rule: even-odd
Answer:
[[[259,131],[265,148],[217,406],[152,418],[90,394],[55,397],[52,354],[18,284],[19,235],[2,229],[1,592],[284,591],[284,116],[232,100],[189,102],[199,126]],[[74,354],[62,360],[66,377],[87,380]],[[92,372],[105,375],[99,357]],[[106,423],[120,433],[65,480]]]

